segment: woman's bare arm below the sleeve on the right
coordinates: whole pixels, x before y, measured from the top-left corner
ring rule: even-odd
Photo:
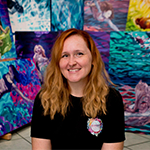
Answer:
[[[124,147],[124,142],[103,143],[101,150],[123,150],[123,147]]]

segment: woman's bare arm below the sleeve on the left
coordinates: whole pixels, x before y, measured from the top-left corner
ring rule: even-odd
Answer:
[[[52,150],[51,140],[31,138],[32,139],[32,150]]]

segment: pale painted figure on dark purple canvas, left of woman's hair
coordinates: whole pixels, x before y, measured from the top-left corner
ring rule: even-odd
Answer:
[[[35,45],[33,59],[38,69],[38,74],[41,82],[43,82],[43,76],[49,60],[45,55],[45,50],[41,45]]]

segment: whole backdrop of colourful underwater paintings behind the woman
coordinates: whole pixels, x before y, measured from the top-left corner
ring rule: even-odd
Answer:
[[[149,7],[149,0],[0,0],[0,136],[31,122],[51,48],[69,28],[93,38],[122,95],[125,130],[150,134]]]

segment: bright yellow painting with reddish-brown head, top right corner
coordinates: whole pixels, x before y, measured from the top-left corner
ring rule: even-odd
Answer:
[[[130,0],[126,31],[150,31],[150,0]]]

